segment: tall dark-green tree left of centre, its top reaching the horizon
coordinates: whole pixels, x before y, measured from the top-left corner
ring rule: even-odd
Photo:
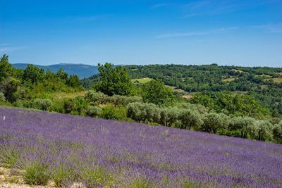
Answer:
[[[109,96],[114,94],[129,96],[133,93],[133,83],[125,68],[118,66],[114,68],[111,63],[98,64],[101,82],[96,84],[97,91]]]

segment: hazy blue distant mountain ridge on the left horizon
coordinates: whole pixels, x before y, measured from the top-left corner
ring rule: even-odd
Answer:
[[[25,69],[27,68],[27,63],[15,63],[12,64],[15,68]],[[38,68],[43,68],[45,71],[50,69],[51,72],[56,73],[59,68],[68,73],[68,75],[78,75],[80,79],[90,77],[99,73],[98,66],[95,65],[85,65],[85,64],[71,64],[71,63],[60,63],[54,65],[35,65]]]

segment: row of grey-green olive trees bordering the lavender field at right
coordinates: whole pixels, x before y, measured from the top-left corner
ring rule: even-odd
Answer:
[[[128,104],[128,118],[140,123],[157,123],[167,127],[199,130],[203,132],[225,134],[233,137],[258,140],[274,140],[281,143],[282,123],[276,118],[272,121],[257,120],[249,116],[231,118],[224,113],[202,110],[202,106],[190,104],[186,108],[163,108],[154,104]]]

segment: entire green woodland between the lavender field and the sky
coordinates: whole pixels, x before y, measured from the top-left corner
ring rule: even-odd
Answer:
[[[98,70],[79,80],[62,69],[13,68],[4,55],[0,105],[282,143],[282,68],[105,63]]]

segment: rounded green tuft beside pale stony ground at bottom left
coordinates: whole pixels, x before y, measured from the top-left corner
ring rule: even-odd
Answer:
[[[42,163],[31,163],[25,168],[23,180],[27,184],[46,185],[50,179],[48,166]]]

